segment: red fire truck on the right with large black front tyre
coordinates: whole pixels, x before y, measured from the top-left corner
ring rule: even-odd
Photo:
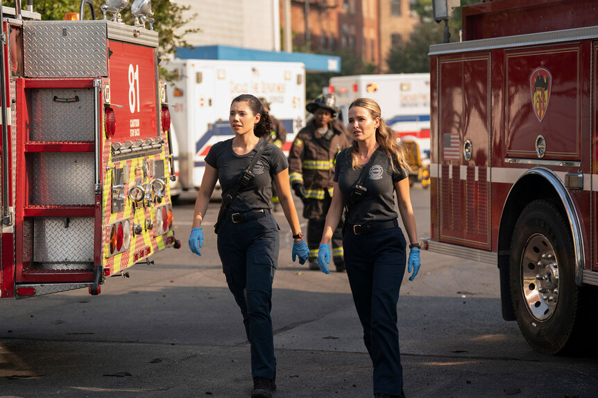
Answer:
[[[462,10],[462,41],[430,46],[425,246],[497,264],[503,317],[554,354],[596,318],[585,314],[598,284],[598,8]]]

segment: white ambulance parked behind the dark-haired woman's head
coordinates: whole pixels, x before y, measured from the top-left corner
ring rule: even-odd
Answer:
[[[305,125],[305,65],[300,62],[174,59],[166,68],[179,76],[168,85],[168,94],[182,190],[199,188],[210,147],[234,136],[228,114],[235,97],[250,93],[271,103],[271,114],[287,129],[285,153]]]

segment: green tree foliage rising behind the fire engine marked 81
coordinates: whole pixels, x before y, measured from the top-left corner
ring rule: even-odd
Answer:
[[[101,6],[104,1],[92,0],[94,3],[94,10],[96,19],[102,19]],[[26,6],[26,1],[22,2]],[[130,4],[133,1],[129,1]],[[65,18],[67,12],[79,12],[80,1],[74,0],[41,0],[35,1],[34,7],[35,12],[40,12],[42,20],[60,20]],[[154,13],[153,18],[155,19],[154,29],[160,35],[160,47],[158,48],[158,57],[170,57],[175,54],[177,47],[190,48],[191,45],[185,40],[185,35],[188,33],[194,33],[196,29],[185,28],[185,24],[189,19],[182,16],[182,13],[189,10],[189,6],[180,6],[176,3],[172,3],[169,0],[153,0],[152,11]],[[127,6],[122,12],[121,16],[123,21],[128,25],[135,23],[135,17],[131,14],[130,6]],[[89,6],[85,5],[85,18],[91,18],[91,12]],[[107,15],[110,19],[110,13]],[[146,24],[149,28],[149,25]],[[166,71],[166,69],[160,67],[160,78],[165,80],[173,80],[176,78],[172,73]]]

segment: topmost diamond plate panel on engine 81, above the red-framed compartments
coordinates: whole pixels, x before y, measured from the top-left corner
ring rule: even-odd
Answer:
[[[108,76],[105,21],[24,21],[23,47],[27,77]]]

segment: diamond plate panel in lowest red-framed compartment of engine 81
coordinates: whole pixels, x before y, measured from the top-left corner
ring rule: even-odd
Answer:
[[[39,217],[33,221],[33,262],[42,263],[42,268],[89,268],[93,260],[94,217]],[[60,268],[49,268],[52,264]]]

